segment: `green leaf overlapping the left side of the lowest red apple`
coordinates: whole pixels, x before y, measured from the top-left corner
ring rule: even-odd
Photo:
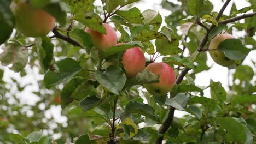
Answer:
[[[125,87],[126,89],[131,89],[131,87],[135,85],[157,82],[159,82],[159,75],[153,74],[149,70],[141,70],[135,77],[126,81]]]

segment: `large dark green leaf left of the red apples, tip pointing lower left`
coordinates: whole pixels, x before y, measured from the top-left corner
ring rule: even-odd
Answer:
[[[57,85],[68,80],[81,70],[77,61],[72,58],[61,59],[56,62],[55,70],[48,70],[44,75],[44,85],[46,88]]]

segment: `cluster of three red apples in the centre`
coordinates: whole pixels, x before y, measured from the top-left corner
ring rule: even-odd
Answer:
[[[85,32],[91,35],[92,43],[95,45],[95,47],[97,47],[97,49],[107,50],[111,46],[124,44],[117,44],[117,34],[115,33],[114,29],[106,23],[103,23],[103,25],[106,28],[106,34],[99,33],[91,28],[85,28]],[[165,95],[166,93],[170,92],[175,85],[176,76],[170,65],[160,62],[150,63],[146,67],[144,53],[139,47],[127,49],[122,57],[122,63],[129,79],[136,76],[139,71],[144,69],[147,69],[160,76],[158,83],[144,84],[144,88],[146,88],[147,91],[152,95]]]

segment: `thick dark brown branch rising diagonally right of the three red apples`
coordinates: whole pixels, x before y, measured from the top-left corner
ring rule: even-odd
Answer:
[[[219,14],[216,17],[216,20],[219,20],[220,17],[223,14],[223,11],[225,10],[225,8],[228,6],[229,2],[231,0],[226,0],[226,2],[224,3],[222,9],[220,9]],[[201,52],[203,51],[203,47],[205,47],[207,41],[208,41],[208,34],[212,31],[212,29],[214,28],[214,25],[211,25],[211,27],[209,28],[209,30],[206,32],[205,37],[203,37],[203,40],[201,41],[201,44],[199,46],[198,51]],[[184,68],[181,72],[181,74],[179,74],[179,76],[176,79],[176,85],[178,85],[179,83],[182,82],[184,76],[188,73],[189,69],[188,68]],[[169,106],[168,109],[170,110],[168,113],[167,118],[165,119],[164,123],[161,125],[161,127],[158,130],[159,134],[165,134],[166,131],[170,128],[171,124],[172,124],[172,120],[174,117],[174,111],[175,108],[172,106]],[[164,136],[159,137],[158,139],[155,140],[155,144],[161,144],[162,140],[164,139]]]

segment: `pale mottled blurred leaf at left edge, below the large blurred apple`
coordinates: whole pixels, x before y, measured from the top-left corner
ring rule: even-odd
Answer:
[[[3,52],[0,54],[1,65],[7,66],[13,64],[10,68],[15,72],[19,72],[25,68],[28,61],[28,51],[22,50],[22,47],[17,44],[8,44],[3,47]]]

